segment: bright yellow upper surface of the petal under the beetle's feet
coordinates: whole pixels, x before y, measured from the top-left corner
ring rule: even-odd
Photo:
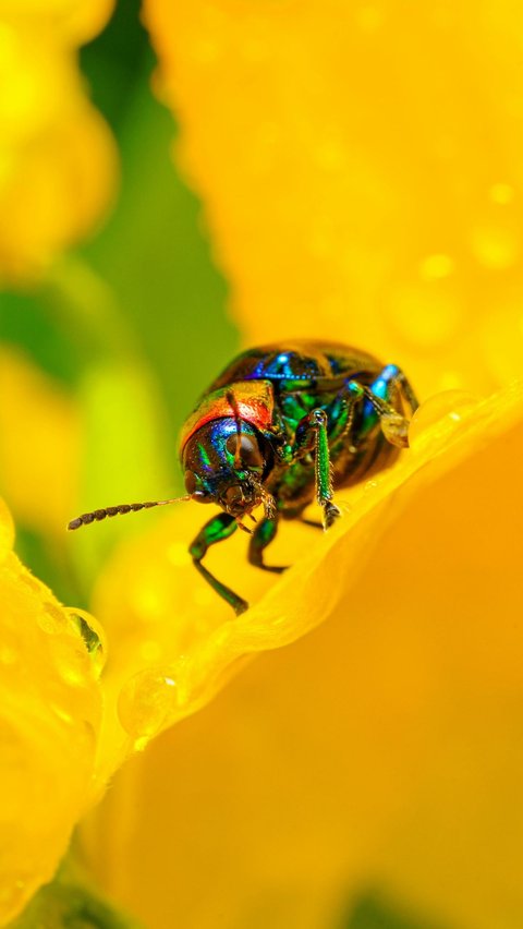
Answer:
[[[368,556],[372,540],[386,528],[398,488],[403,488],[406,500],[418,472],[423,482],[435,481],[441,471],[455,467],[460,456],[472,456],[498,431],[508,430],[521,413],[520,394],[512,390],[478,402],[450,391],[428,401],[415,417],[413,448],[401,464],[341,491],[337,499],[346,511],[325,536],[317,539],[314,530],[297,522],[283,524],[273,560],[297,565],[278,582],[245,563],[240,533],[211,550],[212,571],[241,588],[252,604],[244,616],[233,616],[194,571],[186,553],[202,520],[208,518],[207,509],[194,505],[180,509],[145,538],[122,546],[100,579],[95,612],[119,641],[111,673],[127,678],[130,691],[120,695],[127,733],[139,739],[161,731],[207,700],[242,655],[288,644],[318,625],[345,592],[351,572]],[[135,674],[145,675],[143,686]],[[159,724],[150,725],[141,695],[147,703],[155,681],[172,677],[175,691],[169,681],[158,685],[159,705],[161,695],[167,702]],[[133,707],[143,729],[133,719]]]

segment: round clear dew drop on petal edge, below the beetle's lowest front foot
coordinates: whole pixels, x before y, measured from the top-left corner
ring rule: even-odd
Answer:
[[[148,668],[121,689],[118,715],[134,739],[149,739],[177,715],[179,695],[175,677],[167,669]]]

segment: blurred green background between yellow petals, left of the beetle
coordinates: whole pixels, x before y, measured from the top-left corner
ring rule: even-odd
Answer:
[[[82,49],[81,64],[117,140],[121,186],[90,242],[37,289],[0,294],[0,339],[80,403],[77,505],[85,511],[182,490],[181,424],[238,350],[239,335],[227,316],[227,285],[202,205],[170,157],[177,126],[150,89],[156,61],[137,0],[118,4],[102,34]],[[86,606],[122,527],[75,536],[74,546],[68,539],[57,557],[51,540],[14,516],[23,560],[65,603]],[[123,531],[136,531],[129,523]],[[64,564],[66,553],[74,569]]]

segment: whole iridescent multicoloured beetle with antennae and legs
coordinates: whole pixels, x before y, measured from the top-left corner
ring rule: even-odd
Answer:
[[[340,516],[335,487],[391,463],[409,445],[416,408],[401,369],[365,351],[318,340],[252,348],[212,382],[183,426],[185,496],[94,510],[69,529],[179,500],[218,504],[221,512],[205,523],[190,553],[211,588],[241,614],[246,601],[203,564],[208,548],[240,528],[251,536],[251,564],[285,570],[264,557],[280,519],[303,519],[316,498],[324,529],[332,526]],[[259,521],[253,515],[258,507]],[[254,529],[245,526],[247,517]]]

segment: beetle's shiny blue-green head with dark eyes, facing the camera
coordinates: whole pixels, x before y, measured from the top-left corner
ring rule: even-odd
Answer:
[[[187,494],[199,503],[219,504],[235,519],[266,503],[262,482],[271,463],[267,439],[251,423],[233,418],[203,425],[182,454]]]

